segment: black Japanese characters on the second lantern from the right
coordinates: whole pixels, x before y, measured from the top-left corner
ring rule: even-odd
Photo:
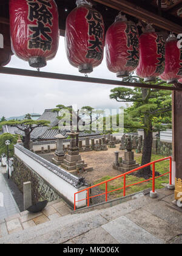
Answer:
[[[165,40],[163,35],[157,35],[157,39],[156,39],[156,43],[157,43],[157,54],[161,55],[161,57],[157,58],[158,59],[158,63],[157,63],[157,68],[155,70],[155,73],[157,74],[162,74],[164,72],[164,68],[165,68]]]

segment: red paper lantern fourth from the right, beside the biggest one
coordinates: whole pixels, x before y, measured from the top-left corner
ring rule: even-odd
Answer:
[[[91,73],[103,61],[104,21],[86,0],[76,4],[66,20],[67,58],[79,72]]]

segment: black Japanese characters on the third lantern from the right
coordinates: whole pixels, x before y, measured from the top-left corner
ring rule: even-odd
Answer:
[[[127,47],[130,48],[132,46],[132,50],[128,50],[129,56],[127,57],[126,66],[132,66],[136,68],[138,66],[139,60],[139,51],[138,51],[138,32],[135,25],[127,24],[126,27],[126,35],[127,35]]]

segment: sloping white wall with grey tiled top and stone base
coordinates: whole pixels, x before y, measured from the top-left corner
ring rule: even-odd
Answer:
[[[83,178],[73,176],[19,144],[15,145],[12,179],[20,190],[22,190],[23,182],[31,181],[35,201],[39,201],[41,197],[53,201],[61,196],[72,207],[74,193],[86,187]],[[78,195],[76,201],[86,198],[86,192]],[[81,201],[78,202],[77,207],[83,207],[84,205],[86,205],[86,201]]]

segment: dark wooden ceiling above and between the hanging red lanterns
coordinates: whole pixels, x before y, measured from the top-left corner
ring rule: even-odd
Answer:
[[[59,10],[59,28],[64,34],[67,15],[76,7],[76,0],[55,0]],[[101,12],[106,29],[118,12],[123,11],[130,20],[146,21],[159,30],[182,32],[182,0],[94,0],[94,8]],[[0,2],[0,23],[8,23],[8,0]]]

